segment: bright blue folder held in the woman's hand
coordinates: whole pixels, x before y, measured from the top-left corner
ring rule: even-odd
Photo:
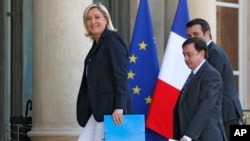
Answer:
[[[123,115],[121,125],[104,115],[104,136],[105,141],[145,141],[144,115]]]

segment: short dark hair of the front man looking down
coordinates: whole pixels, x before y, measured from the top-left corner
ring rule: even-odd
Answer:
[[[207,44],[199,37],[191,37],[188,38],[183,44],[182,44],[182,48],[184,48],[184,46],[186,46],[187,44],[191,44],[194,43],[194,48],[195,50],[197,50],[198,52],[204,50],[205,52],[205,56],[204,58],[207,59],[208,58],[208,47]]]

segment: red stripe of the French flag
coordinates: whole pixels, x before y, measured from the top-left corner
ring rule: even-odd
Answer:
[[[166,137],[173,138],[173,112],[180,90],[158,79],[148,111],[146,127]]]

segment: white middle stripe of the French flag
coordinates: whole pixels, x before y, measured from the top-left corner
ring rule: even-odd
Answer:
[[[182,54],[182,44],[186,39],[170,32],[168,44],[163,57],[159,79],[181,90],[190,69],[187,67]]]

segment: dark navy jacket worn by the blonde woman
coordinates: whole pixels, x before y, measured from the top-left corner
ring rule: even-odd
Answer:
[[[120,34],[104,30],[93,43],[84,62],[77,99],[77,120],[84,127],[93,114],[101,122],[114,109],[132,113],[132,97],[127,80],[128,49]]]

